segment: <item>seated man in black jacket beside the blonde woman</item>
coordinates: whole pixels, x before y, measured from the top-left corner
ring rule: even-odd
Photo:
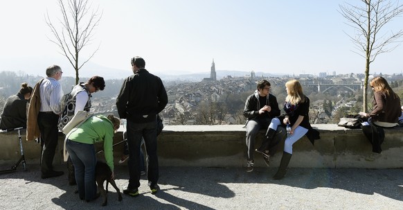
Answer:
[[[278,108],[276,96],[271,95],[270,82],[267,80],[260,80],[257,85],[256,91],[251,94],[245,103],[244,116],[247,121],[247,147],[248,147],[248,159],[247,159],[247,172],[253,170],[253,152],[255,151],[256,136],[261,129],[267,129],[269,127],[271,119],[280,115],[280,109]],[[276,135],[277,139],[284,139],[284,128],[278,126],[278,130],[272,133],[272,130],[267,129],[267,135]],[[278,140],[279,141],[279,140]],[[276,143],[278,143],[276,141]],[[274,145],[271,145],[271,147]],[[269,166],[269,152],[262,152],[265,159],[265,163]]]

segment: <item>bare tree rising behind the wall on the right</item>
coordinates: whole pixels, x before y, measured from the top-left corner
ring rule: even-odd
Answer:
[[[355,51],[366,59],[365,80],[364,80],[364,112],[367,112],[368,98],[368,76],[370,64],[374,62],[377,55],[393,51],[400,43],[403,30],[397,33],[383,33],[382,29],[393,18],[403,13],[403,5],[399,1],[388,0],[361,0],[361,5],[355,6],[351,3],[340,5],[340,13],[347,19],[348,26],[355,29],[354,35],[348,35],[355,44]]]

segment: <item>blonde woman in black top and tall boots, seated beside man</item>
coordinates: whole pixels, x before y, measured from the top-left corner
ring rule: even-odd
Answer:
[[[283,157],[274,180],[283,179],[289,160],[292,157],[292,145],[303,136],[307,135],[308,139],[314,143],[314,139],[320,139],[319,132],[314,130],[309,121],[310,98],[303,94],[303,89],[298,80],[289,80],[285,83],[287,97],[285,98],[284,111],[285,115],[271,120],[269,128],[277,129],[278,125],[285,126],[287,123],[291,125],[291,131],[287,135],[284,143]]]

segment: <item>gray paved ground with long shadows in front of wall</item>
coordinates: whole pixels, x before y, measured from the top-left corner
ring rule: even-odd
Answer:
[[[0,175],[0,209],[403,209],[402,169],[290,168],[274,181],[276,168],[161,168],[156,195],[143,177],[137,198],[118,202],[109,186],[108,205],[100,207],[101,199],[79,200],[66,176],[42,180],[39,166],[21,168]],[[127,168],[115,173],[122,189]]]

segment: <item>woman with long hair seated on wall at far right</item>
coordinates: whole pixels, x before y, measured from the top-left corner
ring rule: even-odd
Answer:
[[[370,81],[374,91],[373,111],[359,112],[361,116],[370,117],[370,124],[361,126],[367,139],[373,145],[373,152],[381,153],[381,144],[385,134],[383,128],[394,128],[402,114],[400,98],[389,86],[385,78],[377,76]]]

